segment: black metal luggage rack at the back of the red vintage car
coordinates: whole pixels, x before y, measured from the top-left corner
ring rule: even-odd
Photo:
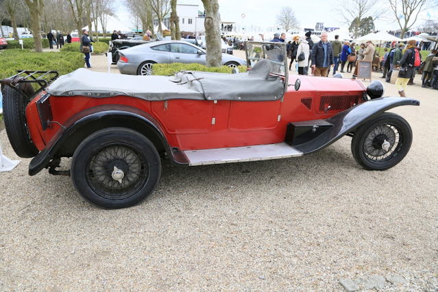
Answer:
[[[17,70],[17,72],[18,73],[16,73],[14,76],[1,80],[1,90],[3,91],[3,87],[7,85],[19,91],[19,93],[23,94],[28,99],[32,99],[32,97],[38,95],[38,93],[40,93],[44,88],[47,87],[47,85],[56,80],[59,76],[58,71]],[[35,92],[32,94],[32,96],[28,96],[27,93],[21,90],[19,87],[19,84],[21,83],[36,84],[37,88],[34,88]]]

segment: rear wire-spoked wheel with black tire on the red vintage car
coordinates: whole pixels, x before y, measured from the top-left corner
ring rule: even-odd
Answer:
[[[161,161],[154,144],[123,127],[110,127],[88,136],[71,162],[71,179],[77,192],[105,209],[142,202],[154,191],[160,175]]]

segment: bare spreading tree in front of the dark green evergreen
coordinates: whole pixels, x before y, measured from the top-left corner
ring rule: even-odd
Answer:
[[[386,12],[382,9],[380,0],[341,0],[335,8],[337,13],[342,16],[348,27],[354,28],[352,34],[358,37],[359,27],[363,19],[372,17],[375,21]]]

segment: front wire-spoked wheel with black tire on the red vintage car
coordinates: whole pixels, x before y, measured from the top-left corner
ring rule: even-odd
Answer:
[[[352,154],[365,169],[382,171],[402,161],[411,144],[409,123],[398,114],[385,112],[354,132]]]

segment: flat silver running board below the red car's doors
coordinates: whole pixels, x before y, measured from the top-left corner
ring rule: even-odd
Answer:
[[[221,163],[271,160],[302,156],[303,153],[287,143],[256,145],[233,148],[217,148],[182,151],[188,165],[219,165]]]

